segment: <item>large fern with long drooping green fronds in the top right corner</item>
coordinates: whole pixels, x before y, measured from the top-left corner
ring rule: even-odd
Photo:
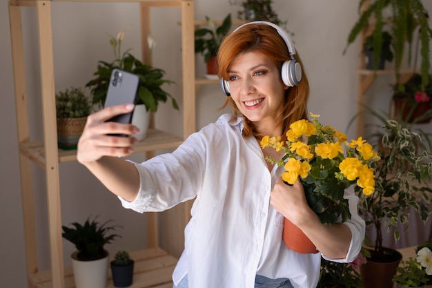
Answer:
[[[383,17],[385,10],[389,12],[391,19],[390,33],[393,39],[396,83],[400,83],[400,68],[402,66],[402,59],[404,59],[405,44],[406,42],[409,44],[409,59],[411,59],[413,35],[416,26],[418,26],[421,42],[422,86],[426,86],[431,67],[429,62],[429,42],[432,39],[432,31],[428,23],[429,15],[426,8],[424,8],[422,0],[375,0],[370,5],[365,6],[366,3],[369,3],[369,1],[360,0],[359,2],[358,10],[360,17],[349,32],[346,48],[355,41],[360,32],[368,30],[372,23],[373,30],[369,33],[373,35],[373,50],[380,51],[384,40],[382,38],[384,25],[390,22],[389,19]],[[377,57],[374,63],[378,61]]]

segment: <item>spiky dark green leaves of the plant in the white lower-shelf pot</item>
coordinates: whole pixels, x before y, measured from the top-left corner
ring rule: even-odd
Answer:
[[[83,261],[97,260],[106,256],[105,244],[110,244],[112,240],[121,237],[117,234],[109,234],[119,226],[107,226],[111,220],[99,224],[97,218],[90,220],[87,218],[84,225],[78,222],[71,223],[72,227],[62,226],[61,236],[75,244],[78,250],[78,259]]]

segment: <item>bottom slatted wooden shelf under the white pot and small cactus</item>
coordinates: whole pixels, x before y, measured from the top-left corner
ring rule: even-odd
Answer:
[[[133,282],[130,288],[173,287],[172,274],[178,261],[177,258],[157,247],[131,252],[130,258],[135,261]],[[50,270],[31,273],[28,278],[37,288],[55,288],[52,286]],[[64,267],[64,283],[65,288],[75,288],[72,266]],[[114,288],[110,269],[108,269],[106,288]]]

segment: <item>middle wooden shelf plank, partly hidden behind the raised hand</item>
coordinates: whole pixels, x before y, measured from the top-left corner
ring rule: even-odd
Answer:
[[[157,129],[149,129],[147,137],[133,146],[136,152],[155,151],[167,148],[176,148],[184,140],[176,135]],[[43,142],[23,142],[19,144],[19,151],[42,168],[46,166],[45,146]],[[77,160],[76,150],[59,149],[59,162]]]

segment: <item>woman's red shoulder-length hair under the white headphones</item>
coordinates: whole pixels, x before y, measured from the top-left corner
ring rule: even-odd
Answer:
[[[284,39],[282,39],[275,28],[265,24],[249,24],[231,33],[222,42],[217,53],[219,78],[228,79],[228,70],[230,70],[231,63],[237,55],[244,52],[262,53],[262,55],[271,59],[279,70],[282,68],[284,61],[291,59]],[[297,86],[289,87],[285,90],[285,102],[281,117],[283,131],[287,131],[289,125],[297,120],[308,119],[306,107],[309,98],[309,83],[304,73],[302,60],[297,52],[295,56],[302,66],[302,81]],[[280,81],[282,81],[282,76]],[[222,108],[228,106],[228,104],[233,108],[235,116],[242,115],[231,97],[227,97]],[[264,136],[257,135],[253,123],[246,117],[244,117],[243,133],[245,136]]]

